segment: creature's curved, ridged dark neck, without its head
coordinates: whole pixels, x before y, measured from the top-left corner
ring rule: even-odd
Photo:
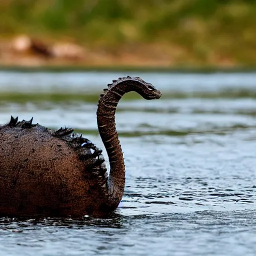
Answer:
[[[124,159],[115,128],[115,109],[119,99],[125,92],[134,90],[132,81],[109,84],[105,93],[100,95],[97,109],[98,131],[106,148],[110,173],[108,178],[108,193],[121,199],[125,183]]]

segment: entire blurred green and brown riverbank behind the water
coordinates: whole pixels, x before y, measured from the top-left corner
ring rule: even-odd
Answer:
[[[0,1],[1,66],[244,68],[252,0]]]

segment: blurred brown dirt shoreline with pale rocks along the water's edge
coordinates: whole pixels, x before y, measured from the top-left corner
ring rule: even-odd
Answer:
[[[93,69],[241,69],[232,59],[212,53],[196,59],[177,45],[164,43],[89,48],[70,42],[45,42],[19,35],[0,40],[2,68],[93,68]]]

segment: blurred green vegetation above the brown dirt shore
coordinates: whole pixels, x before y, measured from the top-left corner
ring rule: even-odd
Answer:
[[[177,65],[256,62],[254,0],[4,0],[0,9],[4,37],[26,33],[111,54],[142,51]]]

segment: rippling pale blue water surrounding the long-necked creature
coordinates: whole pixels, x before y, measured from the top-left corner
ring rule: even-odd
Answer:
[[[33,116],[103,147],[96,101],[126,74],[0,72],[0,123]],[[0,255],[255,255],[256,73],[129,74],[162,98],[130,93],[118,104],[118,209],[105,219],[0,218]]]

